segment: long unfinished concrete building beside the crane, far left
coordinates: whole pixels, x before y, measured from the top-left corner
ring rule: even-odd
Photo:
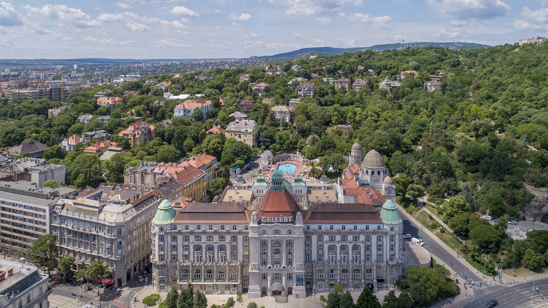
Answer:
[[[88,89],[85,85],[66,86],[61,84],[38,85],[36,88],[8,90],[8,101],[17,103],[26,99],[49,99],[66,102],[68,95]]]

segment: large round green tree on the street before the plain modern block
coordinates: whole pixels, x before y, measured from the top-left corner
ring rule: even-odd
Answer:
[[[27,259],[38,269],[47,271],[49,275],[50,271],[59,264],[59,248],[56,245],[55,236],[47,234],[35,239],[27,249]]]

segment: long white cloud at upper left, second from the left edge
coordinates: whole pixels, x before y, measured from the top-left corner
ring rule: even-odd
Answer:
[[[48,16],[52,19],[69,21],[79,28],[99,27],[101,22],[92,19],[81,9],[69,8],[64,4],[46,4],[43,7],[31,7],[26,4],[23,7],[28,11],[28,15]]]

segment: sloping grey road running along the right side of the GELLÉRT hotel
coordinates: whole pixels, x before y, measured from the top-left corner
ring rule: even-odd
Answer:
[[[402,214],[400,214],[399,216],[404,217]],[[403,227],[404,229],[406,229],[407,232],[411,233],[413,237],[419,237],[420,223],[415,224],[414,221],[404,219]],[[438,246],[438,244],[426,232],[421,231],[420,237],[423,238],[423,241],[425,242],[424,248],[426,248],[426,250],[428,250],[430,254],[437,256],[437,258],[442,260],[445,264],[447,264],[447,266],[450,267],[450,270],[456,272],[456,274],[460,277],[464,277],[465,266],[463,263],[461,263],[458,259],[456,259],[455,256],[447,252],[445,249]],[[479,278],[474,272],[469,270],[466,271],[466,278],[467,282],[482,281],[481,278]]]

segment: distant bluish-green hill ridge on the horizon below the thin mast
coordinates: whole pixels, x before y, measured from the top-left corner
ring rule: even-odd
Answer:
[[[370,47],[355,47],[355,48],[334,48],[334,47],[312,47],[312,48],[301,48],[299,50],[294,50],[293,52],[287,52],[287,53],[281,53],[281,54],[275,54],[270,56],[250,56],[249,58],[256,59],[256,58],[262,58],[262,59],[269,59],[269,58],[294,58],[296,56],[300,56],[304,53],[318,53],[318,54],[326,54],[326,55],[340,55],[343,53],[351,53],[356,52],[358,50],[374,50],[374,51],[382,51],[386,49],[405,49],[405,48],[419,48],[419,47],[426,47],[426,46],[433,46],[433,47],[443,47],[443,48],[449,48],[449,49],[456,49],[459,50],[461,48],[464,49],[477,49],[477,48],[483,48],[483,47],[490,47],[489,45],[483,45],[483,44],[476,44],[476,43],[464,43],[464,42],[412,42],[412,43],[393,43],[393,44],[381,44],[381,45],[373,45]]]

